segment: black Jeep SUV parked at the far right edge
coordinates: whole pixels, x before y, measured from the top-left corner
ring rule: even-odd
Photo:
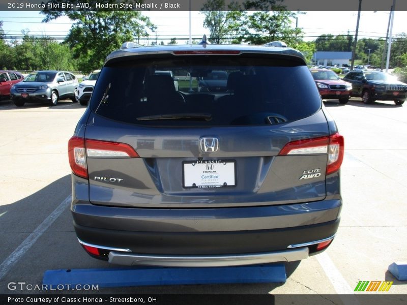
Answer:
[[[407,84],[382,71],[351,71],[343,80],[352,83],[352,96],[361,97],[365,104],[376,100],[404,103]]]

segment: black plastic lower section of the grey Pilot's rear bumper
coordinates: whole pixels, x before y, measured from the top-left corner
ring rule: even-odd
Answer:
[[[310,245],[310,254],[313,254],[317,252],[314,241],[334,236],[338,226],[339,219],[314,225],[267,230],[142,232],[91,228],[74,222],[76,235],[84,243],[100,246],[98,248],[126,249],[130,252],[125,253],[126,255],[153,256],[258,254],[292,250],[293,245],[307,247],[307,244]]]

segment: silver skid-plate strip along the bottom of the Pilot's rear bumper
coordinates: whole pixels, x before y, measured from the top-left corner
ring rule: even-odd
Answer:
[[[222,267],[275,262],[290,262],[308,258],[309,249],[293,249],[270,253],[213,256],[138,255],[135,253],[109,253],[109,263],[119,265],[144,265],[161,267]]]

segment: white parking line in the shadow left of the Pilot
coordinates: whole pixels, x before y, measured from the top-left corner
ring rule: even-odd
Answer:
[[[54,211],[31,233],[20,246],[14,250],[8,258],[0,265],[0,280],[2,280],[7,272],[18,262],[18,260],[34,245],[37,239],[44,233],[48,227],[62,214],[71,202],[72,195],[69,195]]]

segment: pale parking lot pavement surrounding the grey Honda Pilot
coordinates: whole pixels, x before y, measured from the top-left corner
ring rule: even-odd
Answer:
[[[337,236],[327,251],[286,264],[284,284],[145,286],[100,292],[340,295],[355,293],[359,281],[393,281],[388,292],[375,293],[407,295],[407,282],[387,271],[394,261],[407,261],[407,105],[365,105],[352,99],[346,105],[326,101],[325,106],[345,137],[344,206]],[[16,107],[0,101],[0,294],[43,293],[13,290],[8,284],[40,285],[46,270],[115,267],[89,257],[72,226],[67,142],[83,111],[70,101],[56,107]]]

